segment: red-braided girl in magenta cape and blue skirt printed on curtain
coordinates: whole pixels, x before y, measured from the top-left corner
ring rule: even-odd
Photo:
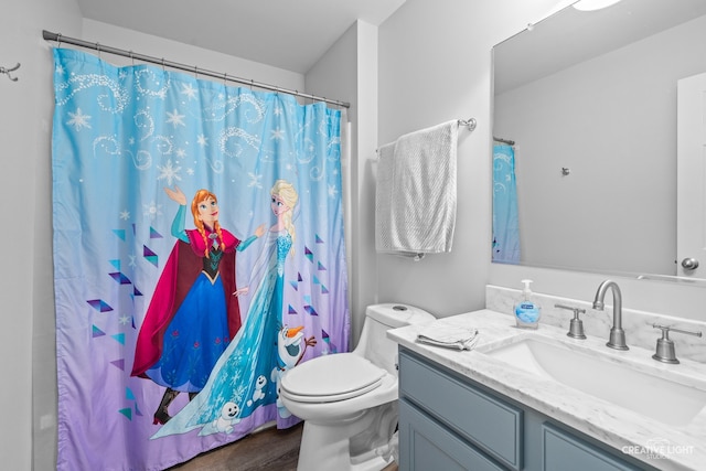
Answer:
[[[244,242],[221,227],[218,201],[199,190],[191,203],[195,229],[185,229],[186,196],[164,189],[179,203],[171,233],[176,238],[138,334],[132,376],[152,379],[167,390],[153,424],[167,424],[179,393],[192,399],[240,328],[235,289],[235,253],[265,234],[265,225]]]

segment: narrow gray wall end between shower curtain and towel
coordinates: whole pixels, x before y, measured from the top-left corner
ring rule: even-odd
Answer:
[[[377,141],[377,28],[357,21],[307,73],[307,89],[351,103],[351,157],[342,162],[351,300],[351,346],[357,344],[365,307],[376,302],[376,259],[371,156]]]

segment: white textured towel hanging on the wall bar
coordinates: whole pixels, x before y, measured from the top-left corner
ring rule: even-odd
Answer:
[[[456,228],[457,149],[457,120],[402,136],[378,149],[377,251],[451,251]]]

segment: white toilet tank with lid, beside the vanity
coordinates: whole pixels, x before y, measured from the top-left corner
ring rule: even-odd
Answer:
[[[360,354],[375,365],[397,375],[397,343],[387,339],[387,331],[405,325],[427,323],[436,318],[419,308],[403,303],[383,303],[368,306],[361,340],[354,353]]]

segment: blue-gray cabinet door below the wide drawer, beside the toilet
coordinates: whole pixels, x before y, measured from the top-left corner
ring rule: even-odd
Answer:
[[[504,470],[405,399],[399,400],[399,469]]]

